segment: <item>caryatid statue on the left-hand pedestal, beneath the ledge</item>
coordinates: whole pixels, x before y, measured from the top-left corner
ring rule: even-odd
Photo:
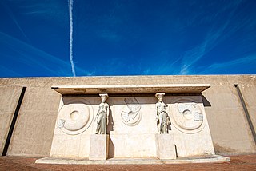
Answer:
[[[110,113],[109,105],[106,103],[108,98],[107,93],[99,94],[102,98],[102,103],[98,107],[98,113],[94,121],[97,121],[96,134],[106,134],[106,127]]]

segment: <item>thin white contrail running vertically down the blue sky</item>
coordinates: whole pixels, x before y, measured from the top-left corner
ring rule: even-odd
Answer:
[[[74,62],[73,62],[73,0],[69,0],[69,14],[70,14],[70,63],[72,67],[72,73],[75,77]]]

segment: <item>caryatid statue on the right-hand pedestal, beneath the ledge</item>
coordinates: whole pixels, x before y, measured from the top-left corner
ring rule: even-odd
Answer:
[[[156,103],[157,109],[157,123],[158,123],[158,133],[168,133],[167,126],[170,125],[170,118],[166,113],[167,105],[162,101],[162,97],[165,93],[156,93],[155,96],[158,98]]]

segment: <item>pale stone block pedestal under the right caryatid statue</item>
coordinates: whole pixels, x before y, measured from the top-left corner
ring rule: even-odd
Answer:
[[[176,159],[173,134],[156,134],[155,141],[159,159]]]

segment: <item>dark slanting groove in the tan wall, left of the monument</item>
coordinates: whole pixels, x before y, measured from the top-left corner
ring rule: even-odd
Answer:
[[[6,137],[6,144],[5,144],[5,147],[2,151],[2,156],[6,156],[6,153],[8,151],[8,148],[9,148],[9,145],[10,145],[10,138],[11,138],[13,132],[14,132],[14,126],[15,126],[15,123],[16,123],[16,120],[17,120],[17,117],[18,117],[18,111],[21,108],[22,100],[23,100],[25,92],[26,92],[26,87],[22,87],[22,93],[19,96],[18,104],[17,104],[15,112],[14,112],[14,117],[13,117],[13,120],[11,121],[11,124],[10,124],[10,129],[9,129],[8,135]]]

